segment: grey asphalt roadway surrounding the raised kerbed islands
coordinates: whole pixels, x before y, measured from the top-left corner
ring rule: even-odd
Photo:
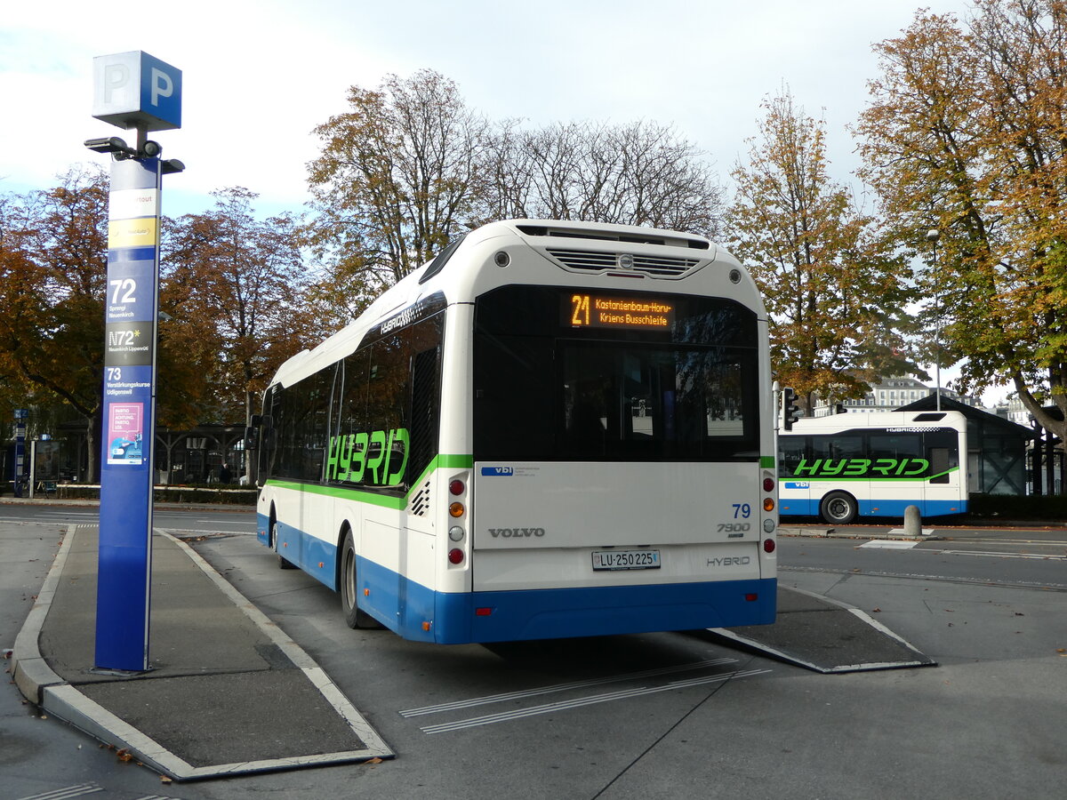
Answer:
[[[168,524],[194,535],[223,530],[227,515],[246,529],[195,547],[318,660],[397,758],[160,786],[35,718],[12,686],[0,692],[0,797],[78,785],[190,800],[1062,796],[1063,531],[907,548],[783,537],[783,585],[858,606],[939,662],[821,675],[686,634],[443,647],[352,631],[335,594],[277,569],[251,516],[187,511]],[[63,524],[0,506],[0,646]]]

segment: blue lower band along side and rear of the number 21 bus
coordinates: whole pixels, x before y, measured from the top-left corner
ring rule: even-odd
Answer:
[[[264,544],[268,522],[260,515],[256,526]],[[333,544],[283,523],[278,543],[285,558],[336,589]],[[440,644],[768,624],[778,586],[769,578],[452,593],[435,592],[364,557],[357,557],[356,570],[363,610],[405,639]],[[478,609],[491,612],[479,615]]]

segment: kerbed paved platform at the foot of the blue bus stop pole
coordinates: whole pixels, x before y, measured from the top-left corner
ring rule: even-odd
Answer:
[[[299,645],[160,531],[152,669],[95,672],[97,542],[95,526],[67,532],[15,640],[29,700],[175,780],[393,756]]]

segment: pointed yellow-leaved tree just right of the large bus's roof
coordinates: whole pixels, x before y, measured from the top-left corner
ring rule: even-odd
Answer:
[[[761,134],[733,170],[731,252],[751,267],[770,319],[776,378],[813,397],[855,396],[903,355],[910,298],[903,256],[827,173],[824,124],[789,91],[763,106]]]

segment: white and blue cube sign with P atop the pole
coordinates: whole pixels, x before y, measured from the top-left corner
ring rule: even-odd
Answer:
[[[146,52],[93,59],[93,116],[120,128],[181,127],[181,70]]]

